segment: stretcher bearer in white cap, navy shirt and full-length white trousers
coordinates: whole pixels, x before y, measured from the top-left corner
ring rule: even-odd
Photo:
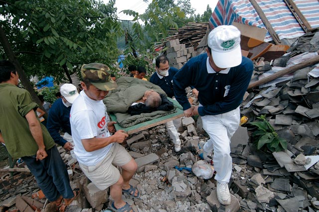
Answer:
[[[191,58],[174,76],[174,93],[186,117],[199,114],[210,139],[204,159],[214,150],[217,198],[229,205],[228,183],[232,172],[230,138],[239,126],[239,105],[249,85],[253,63],[241,55],[240,31],[231,25],[214,28],[208,35],[205,54]],[[198,90],[199,106],[191,107],[185,93],[189,85]],[[214,147],[214,148],[213,148]]]

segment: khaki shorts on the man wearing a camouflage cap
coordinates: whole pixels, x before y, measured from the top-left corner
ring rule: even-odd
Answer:
[[[131,155],[118,143],[114,143],[105,156],[95,166],[79,164],[83,173],[100,190],[105,190],[120,179],[120,171],[115,166],[124,166],[132,160]]]

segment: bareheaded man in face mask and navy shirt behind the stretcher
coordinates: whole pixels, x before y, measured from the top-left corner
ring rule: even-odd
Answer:
[[[169,98],[173,98],[173,77],[178,72],[177,68],[169,67],[166,56],[160,56],[155,60],[156,72],[151,76],[150,82],[160,86]],[[167,132],[174,144],[175,152],[180,151],[180,140],[173,121],[166,122]]]

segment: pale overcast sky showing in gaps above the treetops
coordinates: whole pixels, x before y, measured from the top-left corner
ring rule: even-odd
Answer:
[[[109,0],[104,0],[106,3]],[[214,8],[218,0],[190,0],[191,6],[195,9],[195,14],[203,14],[206,11],[207,4],[214,11]],[[149,0],[152,2],[152,0]],[[125,15],[123,12],[119,13],[124,9],[132,9],[140,14],[145,12],[145,9],[148,7],[148,3],[145,3],[143,0],[116,0],[115,6],[118,8],[118,17],[119,19],[131,20],[133,19],[130,16]],[[208,20],[207,20],[208,21]]]

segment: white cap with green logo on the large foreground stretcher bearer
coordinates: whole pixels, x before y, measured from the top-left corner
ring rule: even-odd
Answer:
[[[233,25],[221,25],[208,35],[208,46],[219,68],[235,67],[241,63],[240,31]]]

